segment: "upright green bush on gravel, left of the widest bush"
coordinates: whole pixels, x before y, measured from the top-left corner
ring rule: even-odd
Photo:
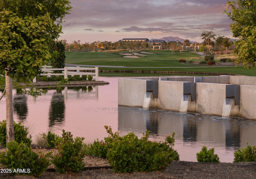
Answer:
[[[59,173],[82,171],[84,168],[84,156],[86,145],[84,138],[73,139],[71,132],[63,130],[62,138],[57,138],[55,145],[58,153],[52,157],[52,163]]]

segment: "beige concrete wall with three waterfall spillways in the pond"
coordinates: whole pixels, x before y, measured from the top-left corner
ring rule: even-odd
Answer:
[[[148,91],[146,81],[142,78],[120,79],[118,105],[142,107],[145,92]],[[234,98],[231,116],[256,119],[256,100],[253,100],[256,98],[256,77],[164,77],[157,83],[158,102],[154,103],[154,108],[180,111],[181,99],[185,94],[190,94],[189,101],[182,100],[188,102],[187,109],[182,111],[222,116],[224,101],[226,98]]]

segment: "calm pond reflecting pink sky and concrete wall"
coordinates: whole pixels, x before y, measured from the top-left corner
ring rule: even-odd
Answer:
[[[48,90],[38,98],[13,90],[14,120],[29,128],[32,140],[42,132],[61,135],[63,129],[84,137],[85,142],[103,140],[108,136],[104,125],[121,135],[134,132],[139,137],[150,130],[151,140],[164,140],[165,135],[175,132],[174,148],[183,161],[196,161],[196,153],[207,146],[215,148],[221,162],[232,162],[234,151],[245,148],[246,142],[256,145],[256,120],[118,106],[119,78],[99,77],[110,84],[68,87],[61,92]],[[5,118],[2,98],[0,120]]]

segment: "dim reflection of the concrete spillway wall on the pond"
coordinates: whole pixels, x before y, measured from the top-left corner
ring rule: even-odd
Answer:
[[[174,132],[176,142],[180,145],[178,148],[186,146],[188,152],[189,148],[208,145],[229,153],[230,156],[226,156],[228,159],[223,154],[222,162],[226,159],[232,162],[234,151],[246,147],[246,142],[249,145],[256,144],[255,120],[226,119],[204,114],[180,114],[168,110],[145,111],[138,107],[118,106],[118,130],[123,135],[131,131],[140,134],[145,130],[150,130],[151,134],[158,136]],[[195,161],[195,156],[191,159],[192,161]]]

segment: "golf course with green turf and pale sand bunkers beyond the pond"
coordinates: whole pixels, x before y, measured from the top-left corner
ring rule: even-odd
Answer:
[[[143,52],[131,51],[116,51],[116,52],[66,52],[67,64],[77,65],[92,65],[99,66],[100,71],[140,71],[140,73],[147,73],[147,71],[155,71],[159,73],[165,71],[172,71],[175,73],[195,73],[210,75],[246,75],[256,76],[255,68],[247,69],[242,66],[230,66],[230,63],[220,62],[221,58],[233,58],[233,54],[216,55],[214,61],[216,65],[199,65],[200,61],[204,61],[204,57],[193,51],[172,51],[169,50],[155,50]],[[180,63],[179,60],[186,60],[186,63]],[[102,67],[106,66],[106,67]],[[100,73],[100,75],[102,75]],[[141,75],[141,74],[140,74]],[[152,75],[152,74],[151,74]],[[119,74],[117,76],[124,76]],[[135,75],[136,76],[136,75]]]

